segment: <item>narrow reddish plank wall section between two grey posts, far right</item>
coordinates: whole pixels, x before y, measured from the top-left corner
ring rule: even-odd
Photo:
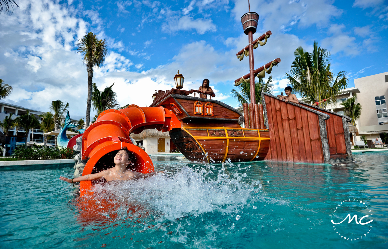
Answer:
[[[299,104],[306,106],[307,108],[326,113],[330,116],[330,118],[326,120],[327,140],[329,141],[330,156],[344,155],[346,157],[346,144],[342,116],[331,111],[326,111],[322,108],[313,107],[303,102]]]

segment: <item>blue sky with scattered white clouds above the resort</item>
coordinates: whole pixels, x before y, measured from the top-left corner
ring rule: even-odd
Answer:
[[[173,87],[180,71],[184,89],[204,78],[216,99],[231,106],[234,80],[249,71],[248,44],[240,18],[246,0],[192,1],[16,1],[20,9],[0,15],[0,78],[14,87],[5,102],[48,111],[51,101],[69,102],[72,118],[84,118],[87,72],[76,44],[92,31],[106,39],[109,54],[95,68],[100,89],[113,84],[120,105],[149,105],[155,89]],[[331,51],[332,71],[353,79],[388,71],[388,1],[251,1],[260,15],[253,38],[272,31],[254,50],[255,68],[279,57],[272,70],[274,93],[287,85],[293,52],[311,51],[314,40]]]

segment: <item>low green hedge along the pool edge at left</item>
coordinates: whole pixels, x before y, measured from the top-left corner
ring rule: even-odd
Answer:
[[[70,159],[75,156],[73,148],[31,148],[24,145],[16,146],[13,154],[19,160]]]

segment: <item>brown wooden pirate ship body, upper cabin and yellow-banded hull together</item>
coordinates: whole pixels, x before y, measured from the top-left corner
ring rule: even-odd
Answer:
[[[159,90],[151,105],[163,106],[177,116],[181,127],[169,132],[185,157],[192,162],[215,163],[265,158],[269,146],[267,129],[244,129],[242,113],[214,99],[188,96],[190,92],[201,93]]]

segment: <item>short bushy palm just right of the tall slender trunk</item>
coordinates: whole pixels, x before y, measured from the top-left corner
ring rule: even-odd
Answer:
[[[96,84],[93,83],[92,105],[93,109],[97,111],[96,117],[98,117],[102,111],[119,106],[117,103],[117,95],[112,90],[113,85],[114,83],[110,87],[105,87],[104,91],[100,91]]]

